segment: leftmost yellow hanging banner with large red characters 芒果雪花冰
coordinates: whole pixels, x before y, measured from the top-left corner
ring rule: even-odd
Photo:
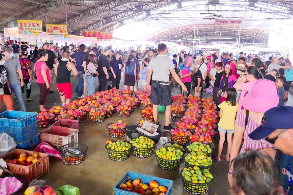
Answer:
[[[37,35],[42,32],[42,20],[17,20],[20,34]]]

